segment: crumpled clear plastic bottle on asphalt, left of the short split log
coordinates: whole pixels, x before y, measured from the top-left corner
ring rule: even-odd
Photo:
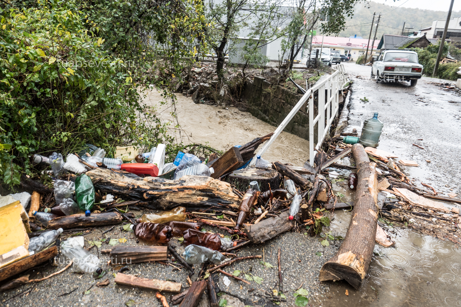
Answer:
[[[72,259],[74,263],[85,273],[102,273],[99,265],[99,258],[91,254],[88,250],[80,245],[72,244],[64,241],[61,244],[61,252],[68,258]]]

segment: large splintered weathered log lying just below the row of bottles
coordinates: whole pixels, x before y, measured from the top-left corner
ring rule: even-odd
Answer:
[[[154,202],[158,209],[238,208],[239,198],[227,182],[205,176],[184,176],[178,180],[158,177],[129,178],[111,169],[96,168],[86,173],[96,189],[124,199]]]

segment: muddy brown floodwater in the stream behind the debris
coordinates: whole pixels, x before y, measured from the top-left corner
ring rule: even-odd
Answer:
[[[276,127],[263,122],[236,107],[195,104],[191,98],[177,94],[176,113],[180,129],[175,128],[171,105],[161,105],[160,93],[148,92],[144,102],[157,108],[163,122],[171,122],[168,133],[184,144],[202,143],[227,151],[231,146],[243,145],[250,140],[273,132]],[[302,166],[309,157],[309,142],[296,135],[282,132],[263,155],[269,161],[290,162]]]

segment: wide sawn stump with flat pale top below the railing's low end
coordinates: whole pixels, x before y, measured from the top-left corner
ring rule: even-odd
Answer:
[[[273,169],[260,169],[260,168],[243,168],[232,172],[224,179],[231,185],[235,185],[238,191],[247,191],[248,185],[251,181],[258,181],[261,191],[277,189],[282,181],[277,171]]]

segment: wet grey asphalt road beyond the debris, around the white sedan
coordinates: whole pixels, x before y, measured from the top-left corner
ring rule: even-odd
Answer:
[[[417,162],[419,167],[402,169],[416,179],[418,187],[424,188],[422,181],[445,192],[445,196],[447,192],[460,195],[461,97],[458,92],[431,84],[454,81],[422,77],[415,87],[405,81],[376,83],[370,79],[371,67],[343,63],[354,81],[345,132],[353,128],[360,132],[363,121],[378,112],[378,119],[384,122],[378,149]],[[360,100],[364,97],[368,102]]]

